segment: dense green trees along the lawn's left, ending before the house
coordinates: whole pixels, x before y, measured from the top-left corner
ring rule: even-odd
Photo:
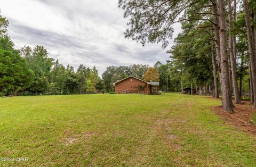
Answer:
[[[44,46],[15,49],[7,34],[9,21],[0,15],[0,95],[92,94],[102,89],[95,66],[64,66]]]

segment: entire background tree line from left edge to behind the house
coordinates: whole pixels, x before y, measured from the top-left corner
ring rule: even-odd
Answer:
[[[0,15],[0,96],[6,95],[69,95],[94,94],[114,91],[113,84],[128,76],[144,79],[147,64],[130,66],[108,66],[99,77],[97,68],[92,69],[81,64],[77,70],[73,66],[64,66],[59,60],[49,57],[44,46],[24,46],[14,48],[14,43],[7,34],[9,22]],[[170,63],[157,62],[154,68],[159,71],[153,76],[159,77],[160,88],[166,90],[170,75]],[[154,71],[154,70],[153,70]],[[149,72],[150,73],[150,72]],[[146,75],[150,80],[150,74]],[[169,77],[170,78],[170,77]],[[157,80],[158,81],[158,80]],[[169,79],[169,91],[179,90],[179,81]],[[172,87],[175,85],[176,87]]]

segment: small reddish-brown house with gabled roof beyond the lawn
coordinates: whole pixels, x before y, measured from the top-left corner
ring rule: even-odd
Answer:
[[[116,94],[158,94],[159,82],[147,82],[136,77],[126,77],[116,81]]]

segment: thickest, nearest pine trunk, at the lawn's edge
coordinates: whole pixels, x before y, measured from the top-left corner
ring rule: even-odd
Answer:
[[[227,32],[226,32],[226,10],[225,1],[218,0],[219,23],[220,23],[220,80],[222,94],[222,110],[234,113],[231,101],[231,88],[229,78],[228,56],[227,56]]]

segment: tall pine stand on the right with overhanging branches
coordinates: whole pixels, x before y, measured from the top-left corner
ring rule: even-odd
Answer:
[[[119,7],[129,18],[125,37],[142,45],[161,42],[166,48],[173,24],[181,24],[168,52],[181,83],[185,79],[201,91],[211,86],[214,97],[221,94],[223,111],[233,113],[232,97],[241,103],[243,83],[249,82],[256,107],[255,1],[119,0]]]

